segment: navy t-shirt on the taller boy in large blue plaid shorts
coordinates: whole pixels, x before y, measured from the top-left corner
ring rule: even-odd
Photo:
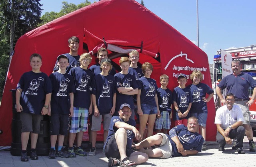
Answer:
[[[89,108],[91,102],[91,82],[93,73],[81,67],[72,68],[69,72],[74,77],[76,92],[74,93],[74,107]]]

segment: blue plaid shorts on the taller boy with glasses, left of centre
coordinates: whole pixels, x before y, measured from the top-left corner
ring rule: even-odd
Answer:
[[[70,133],[78,133],[87,130],[88,109],[74,107],[74,114],[71,117]]]

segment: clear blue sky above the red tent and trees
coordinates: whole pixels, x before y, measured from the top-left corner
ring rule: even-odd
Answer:
[[[42,15],[59,12],[63,1],[41,0]],[[140,3],[141,0],[136,1]],[[144,0],[144,4],[196,44],[196,0]],[[213,56],[219,49],[256,44],[255,6],[256,0],[198,0],[199,47],[208,55],[209,63],[213,63]]]

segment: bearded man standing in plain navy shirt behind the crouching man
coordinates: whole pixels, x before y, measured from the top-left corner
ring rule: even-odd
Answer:
[[[220,101],[225,105],[226,100],[222,96],[222,91],[224,88],[227,88],[227,93],[232,92],[235,99],[235,105],[238,105],[242,109],[244,116],[243,126],[245,128],[245,135],[249,140],[250,151],[256,151],[252,127],[250,126],[250,112],[249,107],[253,104],[256,99],[256,81],[247,73],[241,72],[241,62],[239,60],[233,60],[231,63],[233,73],[227,75],[220,81],[216,87],[216,94],[218,95]],[[252,98],[249,98],[248,88],[253,88]],[[236,149],[236,142],[234,143],[232,149]]]

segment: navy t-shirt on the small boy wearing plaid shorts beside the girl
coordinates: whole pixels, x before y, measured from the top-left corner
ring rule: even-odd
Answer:
[[[158,106],[160,113],[162,111],[168,111],[171,114],[172,109],[172,91],[170,89],[162,89],[161,87],[156,90],[156,95],[158,99]]]

